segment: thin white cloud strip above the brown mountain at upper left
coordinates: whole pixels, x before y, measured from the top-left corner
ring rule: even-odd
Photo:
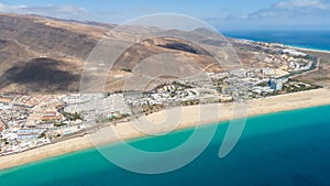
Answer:
[[[8,6],[0,3],[0,12],[7,13],[20,13],[20,14],[38,14],[44,17],[52,17],[57,19],[67,20],[90,20],[90,14],[88,11],[81,7],[76,6]]]

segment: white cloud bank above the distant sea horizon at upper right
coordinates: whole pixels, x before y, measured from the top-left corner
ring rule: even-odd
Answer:
[[[329,0],[279,0],[265,9],[233,14],[220,23],[223,30],[330,29]]]

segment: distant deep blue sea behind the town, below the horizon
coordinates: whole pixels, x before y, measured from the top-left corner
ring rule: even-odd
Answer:
[[[330,51],[330,31],[228,31],[222,34],[229,37]]]

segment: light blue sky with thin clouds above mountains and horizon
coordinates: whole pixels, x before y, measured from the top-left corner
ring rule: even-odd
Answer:
[[[330,30],[330,0],[0,0],[0,12],[118,24],[180,13],[219,30]]]

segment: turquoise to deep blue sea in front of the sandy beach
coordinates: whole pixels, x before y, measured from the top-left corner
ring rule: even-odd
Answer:
[[[328,186],[330,183],[330,106],[250,118],[235,149],[218,157],[228,123],[220,124],[207,150],[189,165],[167,174],[123,171],[96,150],[86,150],[1,171],[1,186]],[[142,139],[132,145],[163,151],[184,142],[191,130]],[[117,145],[106,151],[117,151]],[[198,147],[198,146],[196,146]],[[157,160],[161,161],[161,160]],[[140,160],[138,163],[153,163]]]

